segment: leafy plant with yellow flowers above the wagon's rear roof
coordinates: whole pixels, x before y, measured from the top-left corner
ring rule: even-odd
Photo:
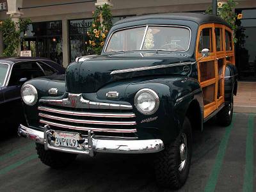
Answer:
[[[242,19],[243,15],[236,14],[234,12],[234,8],[236,7],[236,2],[234,0],[228,0],[227,3],[218,3],[218,10],[217,14],[221,17],[221,19],[225,20],[232,28],[232,31],[234,33],[234,42],[237,42],[236,31],[238,29],[238,26],[236,24],[236,19]],[[205,12],[207,14],[212,14],[212,7],[208,8],[208,10]]]

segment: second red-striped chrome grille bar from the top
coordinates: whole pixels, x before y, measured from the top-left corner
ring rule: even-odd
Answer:
[[[53,120],[60,120],[63,122],[74,122],[77,124],[97,124],[97,125],[136,125],[136,122],[112,122],[112,121],[96,121],[96,120],[81,120],[75,118],[65,118],[60,116],[47,115],[44,113],[39,113],[39,116],[43,118],[50,118]]]

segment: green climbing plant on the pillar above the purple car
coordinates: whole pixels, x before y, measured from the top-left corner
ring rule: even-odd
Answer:
[[[16,29],[15,22],[10,18],[0,22],[0,31],[3,34],[3,56],[11,57],[17,56],[17,48],[22,42],[20,33],[28,29],[28,25],[31,22],[30,19],[19,20],[18,29]]]

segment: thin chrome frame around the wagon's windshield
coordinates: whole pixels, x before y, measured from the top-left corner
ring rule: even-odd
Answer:
[[[115,31],[113,31],[111,33],[111,35],[109,36],[108,38],[108,41],[106,42],[105,44],[105,47],[104,47],[104,53],[106,54],[109,54],[109,53],[112,53],[112,52],[106,52],[106,49],[108,47],[108,44],[109,44],[109,40],[111,39],[111,37],[113,36],[113,34],[117,31],[123,31],[125,29],[132,29],[132,28],[141,28],[141,27],[147,27],[147,26],[159,26],[159,27],[174,27],[174,28],[186,28],[186,29],[189,29],[189,43],[188,43],[188,49],[186,51],[189,50],[189,47],[190,47],[190,44],[191,44],[191,29],[188,27],[188,26],[179,26],[179,25],[165,25],[165,24],[144,24],[144,25],[139,25],[139,26],[131,26],[131,27],[128,27],[128,28],[122,28],[122,29],[116,29]],[[143,43],[143,42],[142,42]],[[126,50],[126,51],[134,51],[134,50]],[[150,51],[150,49],[148,50]],[[152,50],[151,50],[152,51]],[[168,51],[168,50],[166,50]],[[186,52],[186,51],[173,51],[173,52]],[[115,52],[115,51],[114,51]],[[122,52],[122,51],[118,51],[118,52]]]

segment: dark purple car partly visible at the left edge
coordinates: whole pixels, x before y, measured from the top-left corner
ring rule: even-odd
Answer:
[[[0,58],[1,130],[24,122],[20,88],[25,81],[64,73],[65,68],[45,58]]]

